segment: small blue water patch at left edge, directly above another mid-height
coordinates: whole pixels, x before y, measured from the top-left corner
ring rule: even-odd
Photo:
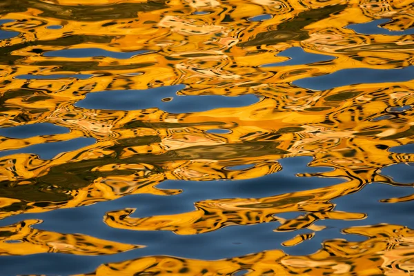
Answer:
[[[54,135],[68,133],[68,128],[56,126],[50,123],[13,126],[12,128],[0,128],[0,136],[9,138],[29,138],[39,135]]]

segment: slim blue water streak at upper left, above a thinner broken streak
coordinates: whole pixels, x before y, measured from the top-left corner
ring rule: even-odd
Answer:
[[[150,50],[139,50],[134,52],[115,52],[108,51],[99,48],[79,48],[79,49],[66,49],[45,52],[45,57],[67,57],[67,58],[79,58],[79,57],[113,57],[115,59],[130,59],[136,55],[146,54],[151,52]]]

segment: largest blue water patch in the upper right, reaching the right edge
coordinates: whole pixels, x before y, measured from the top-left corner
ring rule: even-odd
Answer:
[[[411,81],[414,79],[414,66],[390,70],[355,68],[344,69],[329,75],[309,77],[293,81],[295,86],[313,90],[328,90],[355,83],[384,83]]]

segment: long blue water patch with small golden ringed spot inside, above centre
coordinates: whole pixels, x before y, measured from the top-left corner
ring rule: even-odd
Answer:
[[[255,95],[226,97],[217,95],[183,96],[177,91],[184,89],[183,84],[164,86],[146,90],[110,90],[89,93],[86,98],[78,101],[75,106],[103,110],[139,110],[159,108],[166,112],[186,113],[206,111],[215,108],[231,108],[249,106],[259,101]],[[172,98],[171,101],[162,101]]]

